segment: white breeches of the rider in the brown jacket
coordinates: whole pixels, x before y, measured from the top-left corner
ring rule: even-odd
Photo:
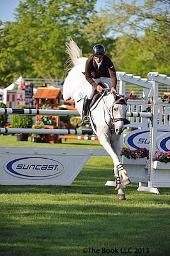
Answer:
[[[112,87],[111,77],[102,76],[100,78],[93,78],[93,81],[95,81],[96,84],[103,83],[105,84],[105,86],[107,86],[107,88]],[[89,100],[93,98],[94,93],[95,93],[95,88],[88,82],[86,86],[86,95]]]

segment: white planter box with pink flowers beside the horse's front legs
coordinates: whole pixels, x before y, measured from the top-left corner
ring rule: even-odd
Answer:
[[[121,152],[123,168],[132,182],[147,182],[148,180],[148,157],[146,148],[131,150],[123,148]]]

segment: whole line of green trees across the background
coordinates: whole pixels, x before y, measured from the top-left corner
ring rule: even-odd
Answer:
[[[20,1],[14,22],[0,20],[1,88],[19,76],[65,77],[70,36],[86,57],[103,44],[118,71],[169,76],[169,1],[138,2],[107,0],[97,12],[97,0]]]

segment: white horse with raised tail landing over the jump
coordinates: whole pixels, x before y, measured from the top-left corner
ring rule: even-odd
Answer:
[[[68,60],[70,60],[73,67],[68,71],[63,84],[63,99],[74,99],[75,108],[82,116],[82,107],[87,90],[86,77],[82,72],[85,70],[88,58],[82,56],[81,49],[72,38],[70,38],[69,42],[66,42],[66,52],[70,56]],[[103,90],[100,98],[89,109],[91,129],[98,136],[100,144],[112,157],[119,200],[126,199],[123,185],[130,184],[127,171],[121,164],[121,149],[123,145],[121,133],[124,129],[123,125],[127,113],[127,100],[127,97],[117,95],[114,92],[111,93],[110,89],[107,88],[107,90]]]

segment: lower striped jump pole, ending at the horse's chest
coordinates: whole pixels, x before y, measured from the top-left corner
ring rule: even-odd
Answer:
[[[93,135],[93,131],[82,131],[76,129],[33,129],[33,128],[0,128],[0,134],[7,133],[35,133],[35,134],[88,134]]]

